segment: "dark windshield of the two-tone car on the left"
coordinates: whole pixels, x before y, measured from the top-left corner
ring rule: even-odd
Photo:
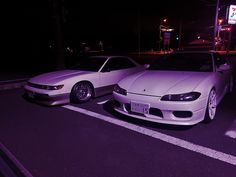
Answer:
[[[71,67],[73,70],[98,71],[107,60],[107,57],[87,57],[81,58],[76,66]]]

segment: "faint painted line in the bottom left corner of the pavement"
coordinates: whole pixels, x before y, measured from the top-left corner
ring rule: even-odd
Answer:
[[[24,177],[33,177],[33,175],[17,160],[17,158],[0,142],[0,149],[16,165]]]

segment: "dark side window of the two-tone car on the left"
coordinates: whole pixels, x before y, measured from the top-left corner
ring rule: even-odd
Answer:
[[[102,71],[114,71],[135,67],[136,65],[125,57],[114,57],[109,59]]]

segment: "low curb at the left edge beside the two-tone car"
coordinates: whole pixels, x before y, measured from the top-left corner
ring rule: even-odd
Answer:
[[[28,78],[18,80],[0,81],[0,91],[24,87],[27,84]]]

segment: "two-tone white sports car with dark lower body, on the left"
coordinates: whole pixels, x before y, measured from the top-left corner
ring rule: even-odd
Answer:
[[[112,93],[118,81],[144,69],[126,56],[91,56],[70,70],[31,78],[24,87],[25,95],[46,105],[86,102],[91,97]]]

